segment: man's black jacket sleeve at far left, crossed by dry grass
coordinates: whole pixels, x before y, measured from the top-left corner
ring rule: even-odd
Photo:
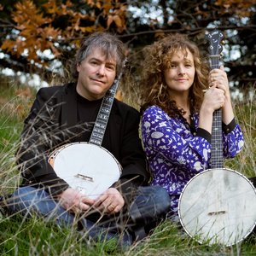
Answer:
[[[44,187],[51,195],[59,194],[68,187],[64,180],[56,176],[48,162],[49,149],[58,140],[53,137],[58,128],[55,116],[57,108],[54,88],[38,90],[24,121],[20,148],[16,154],[23,184]]]

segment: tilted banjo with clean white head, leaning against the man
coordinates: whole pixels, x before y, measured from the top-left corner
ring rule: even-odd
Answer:
[[[102,100],[89,143],[68,143],[49,155],[49,164],[57,176],[91,199],[95,199],[115,183],[122,172],[119,161],[102,147],[121,75],[122,73],[115,79]]]

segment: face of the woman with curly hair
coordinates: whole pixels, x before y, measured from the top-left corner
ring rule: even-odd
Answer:
[[[166,84],[170,93],[183,93],[189,91],[195,79],[194,57],[186,49],[187,54],[178,50],[172,55],[170,67],[164,71]]]

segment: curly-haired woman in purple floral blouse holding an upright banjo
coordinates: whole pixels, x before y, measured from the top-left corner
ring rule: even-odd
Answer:
[[[182,34],[162,38],[145,50],[143,145],[154,174],[151,185],[167,189],[175,219],[186,183],[210,168],[212,113],[222,108],[224,157],[241,150],[243,135],[224,67],[209,72],[198,47]]]

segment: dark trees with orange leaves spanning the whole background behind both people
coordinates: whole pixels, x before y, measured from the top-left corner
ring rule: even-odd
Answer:
[[[0,4],[0,67],[47,76],[67,67],[79,39],[95,31],[119,35],[130,59],[168,32],[183,32],[207,49],[204,35],[218,27],[225,34],[224,62],[242,86],[255,81],[254,0],[3,0]],[[235,54],[236,53],[236,54]],[[1,55],[0,55],[1,57]],[[62,66],[56,64],[61,61]]]

